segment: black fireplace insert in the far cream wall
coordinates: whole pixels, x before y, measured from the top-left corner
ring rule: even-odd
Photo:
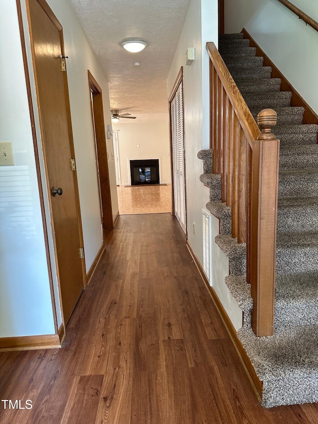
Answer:
[[[159,184],[159,159],[130,161],[131,185]]]

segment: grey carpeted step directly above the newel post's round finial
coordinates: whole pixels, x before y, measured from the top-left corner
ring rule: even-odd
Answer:
[[[290,106],[291,98],[292,93],[290,91],[244,95],[244,100],[249,109],[258,108],[259,111],[266,108],[277,109],[288,107]]]

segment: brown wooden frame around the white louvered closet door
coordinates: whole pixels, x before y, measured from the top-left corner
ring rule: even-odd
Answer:
[[[168,98],[169,102],[169,108],[168,108],[168,114],[169,114],[169,137],[170,137],[170,166],[171,166],[171,214],[175,216],[175,208],[174,208],[174,182],[173,182],[173,151],[172,151],[172,121],[171,121],[171,101],[181,85],[182,87],[182,102],[184,99],[184,90],[183,90],[183,67],[181,66],[180,71],[176,77],[176,80],[173,84],[171,93]],[[183,115],[183,142],[185,141],[185,132],[184,132],[184,102],[182,105]],[[187,191],[186,191],[186,168],[185,168],[185,145],[184,145],[184,153],[183,153],[183,166],[184,166],[184,202],[185,202],[185,211],[184,211],[184,224],[185,224],[185,235],[188,236],[188,226],[187,226]]]

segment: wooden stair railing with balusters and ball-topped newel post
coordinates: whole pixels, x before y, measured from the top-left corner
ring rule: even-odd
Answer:
[[[210,56],[213,172],[222,176],[222,202],[232,209],[232,237],[246,243],[246,280],[253,298],[256,336],[274,332],[279,140],[276,112],[249,111],[214,43]]]

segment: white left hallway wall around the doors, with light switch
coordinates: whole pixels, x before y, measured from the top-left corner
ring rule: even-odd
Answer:
[[[102,244],[87,70],[102,88],[105,125],[110,124],[108,83],[67,0],[49,0],[63,25],[76,151],[86,269]],[[21,0],[26,51],[35,112],[40,172],[47,216],[58,326],[62,322],[54,264],[48,193],[26,5]],[[8,40],[10,41],[8,43]],[[8,60],[9,58],[9,60]],[[0,337],[55,333],[21,40],[15,1],[2,1],[0,14],[0,141],[12,141],[14,166],[0,167]],[[118,212],[112,139],[107,140],[113,217]]]

